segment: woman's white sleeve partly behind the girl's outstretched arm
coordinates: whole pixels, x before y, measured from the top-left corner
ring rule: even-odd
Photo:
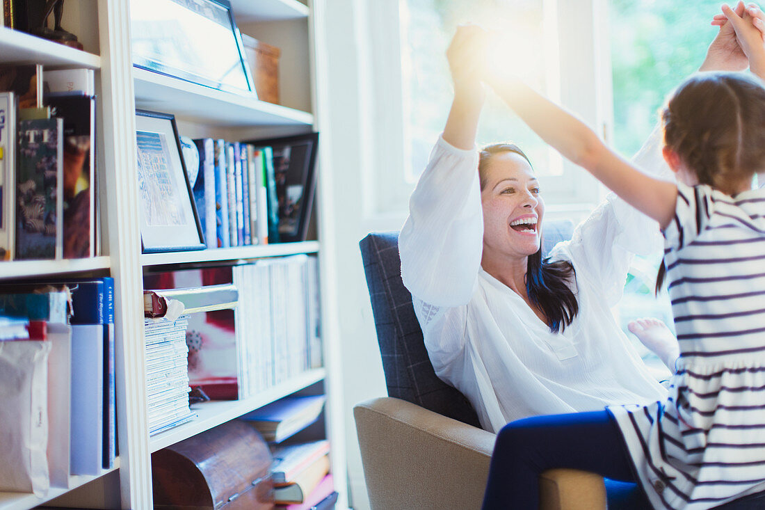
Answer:
[[[674,181],[661,155],[662,132],[657,126],[632,162],[643,172]],[[557,244],[552,260],[570,260],[579,282],[600,286],[614,306],[622,296],[633,254],[661,253],[659,224],[610,193],[574,230],[571,240]]]

